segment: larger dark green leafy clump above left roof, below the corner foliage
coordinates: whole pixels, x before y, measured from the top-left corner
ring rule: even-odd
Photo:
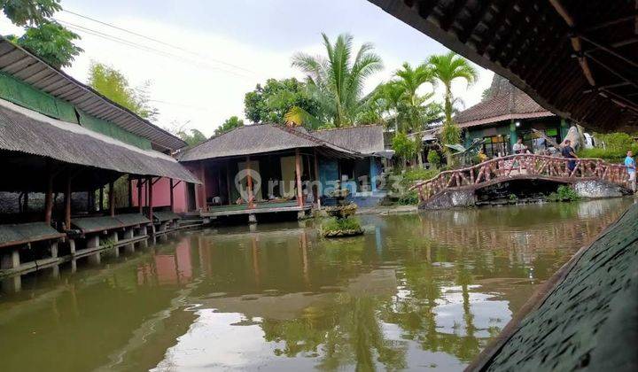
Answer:
[[[80,36],[55,21],[46,20],[38,26],[27,27],[24,35],[11,35],[8,39],[56,68],[71,66],[75,56],[84,51],[73,43]]]

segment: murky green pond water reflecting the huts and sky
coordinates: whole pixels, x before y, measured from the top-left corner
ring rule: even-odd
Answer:
[[[0,295],[3,371],[462,369],[632,199],[184,233]]]

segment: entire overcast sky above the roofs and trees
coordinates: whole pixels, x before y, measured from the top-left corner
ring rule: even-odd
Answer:
[[[151,81],[152,104],[159,109],[156,124],[188,123],[206,136],[230,116],[244,117],[244,95],[255,84],[271,77],[302,78],[291,66],[292,54],[323,52],[322,32],[331,38],[347,32],[357,45],[374,44],[385,69],[370,78],[368,90],[390,79],[404,61],[416,65],[433,53],[447,51],[367,0],[62,0],[62,5],[181,48],[69,12],[55,15],[82,35],[79,44],[84,52],[65,68],[67,73],[86,81],[90,61],[95,60],[121,70],[134,86]],[[0,19],[0,27],[3,35],[20,32],[7,19]],[[95,32],[112,40],[89,34]],[[480,78],[474,86],[454,87],[466,106],[478,103],[492,79],[491,72],[477,68]]]

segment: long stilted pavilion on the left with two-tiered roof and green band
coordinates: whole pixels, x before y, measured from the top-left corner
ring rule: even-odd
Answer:
[[[154,211],[152,184],[199,182],[170,156],[185,144],[0,38],[0,275],[99,260],[105,246],[174,227],[172,205]],[[128,205],[116,210],[122,177]],[[146,208],[131,203],[133,179],[151,185]]]

